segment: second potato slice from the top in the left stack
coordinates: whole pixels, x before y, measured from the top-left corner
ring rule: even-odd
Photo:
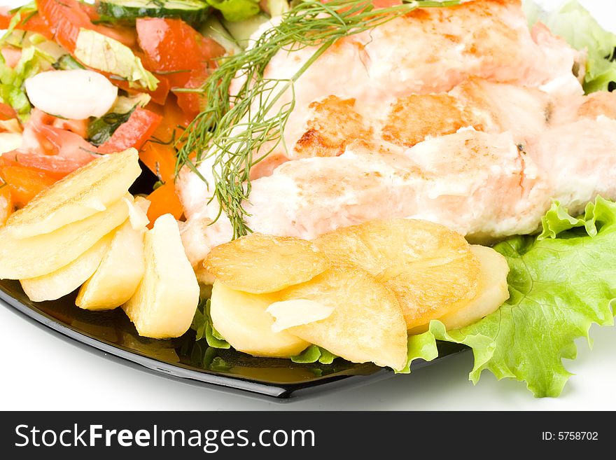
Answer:
[[[36,237],[15,239],[10,236],[9,227],[0,228],[0,279],[36,278],[55,272],[127,218],[128,206],[118,200],[105,211]]]

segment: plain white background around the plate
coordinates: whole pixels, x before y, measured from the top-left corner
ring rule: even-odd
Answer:
[[[18,6],[19,0],[0,0]],[[558,4],[558,1],[542,1]],[[616,31],[612,0],[585,0]],[[356,389],[279,404],[190,386],[109,361],[0,306],[3,410],[616,410],[616,330],[593,326],[594,351],[578,341],[574,375],[560,398],[535,399],[524,384],[484,372],[473,386],[470,352]]]

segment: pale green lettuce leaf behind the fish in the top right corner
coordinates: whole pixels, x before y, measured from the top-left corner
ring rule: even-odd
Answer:
[[[616,86],[612,83],[616,82],[616,34],[605,31],[577,0],[568,1],[550,13],[540,11],[532,1],[526,1],[524,8],[531,25],[540,20],[576,50],[587,50],[584,76],[587,93]]]

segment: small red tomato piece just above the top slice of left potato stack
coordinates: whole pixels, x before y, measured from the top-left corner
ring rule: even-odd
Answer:
[[[150,139],[162,116],[146,109],[136,109],[126,123],[120,125],[109,141],[99,147],[99,153],[116,153],[127,148],[139,150]]]

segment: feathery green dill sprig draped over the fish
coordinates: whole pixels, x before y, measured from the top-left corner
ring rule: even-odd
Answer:
[[[188,166],[207,183],[197,167],[208,160],[214,180],[208,184],[214,186],[211,200],[219,204],[216,219],[225,212],[234,238],[248,234],[244,201],[251,193],[250,169],[284,142],[284,127],[295,107],[293,84],[297,79],[344,36],[374,29],[420,6],[456,4],[460,1],[405,1],[377,10],[370,0],[297,4],[251,48],[222,60],[201,88],[184,90],[204,93],[207,105],[181,139],[176,173]],[[279,50],[307,47],[313,47],[314,53],[293,76],[286,80],[264,77],[267,64]],[[243,83],[230,94],[234,80]],[[285,102],[282,98],[289,94]]]

